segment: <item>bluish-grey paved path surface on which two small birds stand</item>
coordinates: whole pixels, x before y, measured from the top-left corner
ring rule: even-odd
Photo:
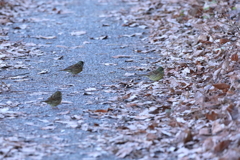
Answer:
[[[64,1],[62,1],[64,2]],[[43,4],[44,5],[44,4]],[[19,17],[24,22],[14,25],[26,24],[27,28],[22,30],[12,29],[9,32],[11,41],[23,41],[35,43],[41,47],[42,55],[32,55],[14,59],[21,61],[27,66],[26,69],[2,69],[2,77],[12,77],[25,74],[25,81],[11,78],[3,78],[2,81],[11,85],[11,91],[1,94],[1,104],[11,101],[10,110],[23,113],[19,117],[4,118],[1,120],[1,137],[17,136],[29,143],[39,146],[51,146],[50,149],[42,151],[42,159],[117,159],[111,153],[103,153],[100,156],[91,156],[98,150],[94,144],[87,147],[79,147],[85,142],[86,136],[105,134],[104,130],[91,132],[80,128],[66,127],[65,124],[57,123],[74,115],[87,125],[94,123],[114,123],[112,119],[99,119],[84,112],[84,110],[107,109],[111,104],[105,104],[108,98],[117,93],[104,92],[104,86],[117,84],[126,79],[123,68],[138,66],[140,61],[146,63],[134,49],[142,45],[139,37],[121,37],[137,32],[143,32],[140,28],[122,27],[122,22],[115,17],[101,17],[109,11],[129,8],[130,5],[119,1],[99,3],[97,0],[72,0],[66,5],[59,6],[66,14],[50,14],[48,12],[34,12],[27,17]],[[32,19],[40,22],[32,22]],[[42,21],[48,19],[47,21]],[[103,26],[109,24],[109,26]],[[72,36],[73,31],[86,31],[81,36]],[[107,39],[96,39],[101,36]],[[56,36],[55,39],[38,39],[37,36]],[[84,42],[89,42],[85,44]],[[124,46],[124,47],[123,47]],[[131,58],[112,58],[116,55],[131,55]],[[62,57],[62,58],[60,58]],[[133,62],[125,62],[133,59]],[[83,60],[84,71],[77,76],[61,72],[71,64]],[[11,63],[11,62],[9,62]],[[108,66],[108,64],[110,64]],[[114,64],[114,65],[111,65]],[[46,74],[39,74],[42,71]],[[87,88],[96,88],[92,95],[84,95]],[[56,90],[63,93],[63,103],[58,109],[41,103],[41,100],[49,97]],[[4,108],[6,106],[2,106]],[[64,112],[68,112],[64,114]],[[43,129],[53,127],[53,129]],[[58,147],[59,146],[59,147]],[[44,147],[43,147],[44,148]],[[29,155],[23,159],[34,159]],[[22,158],[20,158],[22,159]]]

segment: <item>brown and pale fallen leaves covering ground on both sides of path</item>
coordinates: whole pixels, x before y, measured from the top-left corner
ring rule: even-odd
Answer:
[[[130,11],[109,11],[108,16],[122,20],[123,27],[150,31],[149,37],[142,37],[145,49],[136,48],[135,54],[154,53],[155,57],[149,64],[124,68],[125,77],[118,84],[103,86],[105,92],[118,93],[105,102],[110,104],[108,109],[86,110],[96,119],[114,120],[114,123],[83,125],[79,115],[70,121],[57,122],[89,132],[104,131],[82,140],[85,145],[95,145],[96,157],[107,151],[126,159],[239,159],[240,4],[235,0],[127,2],[134,4]],[[1,5],[11,9],[13,4]],[[58,12],[54,8],[50,11]],[[7,17],[2,18],[2,24],[14,21],[15,11],[5,13]],[[34,47],[24,48],[20,42],[9,43],[6,31],[3,28],[1,32],[2,53],[6,53],[1,54],[1,68],[11,66],[4,59],[21,57],[19,50],[41,54]],[[13,51],[15,47],[20,47],[17,53]],[[157,66],[165,69],[160,81],[134,76],[136,72]],[[1,92],[8,88],[2,83]],[[4,108],[0,113],[1,118],[21,115]],[[32,147],[21,138],[8,137],[0,141],[3,158],[20,147],[19,144],[32,153]],[[14,142],[21,143],[14,145]],[[35,149],[42,150],[41,147]]]

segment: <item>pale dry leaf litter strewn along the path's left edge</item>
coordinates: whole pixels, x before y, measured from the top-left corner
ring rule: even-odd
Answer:
[[[41,3],[41,2],[38,2]],[[56,2],[54,2],[56,3]],[[32,9],[39,9],[41,5],[32,3],[31,0],[2,0],[0,2],[1,7],[1,16],[0,23],[2,25],[0,29],[0,70],[13,70],[13,69],[30,69],[31,66],[27,66],[25,64],[25,60],[28,61],[28,58],[31,56],[41,56],[43,52],[39,50],[39,48],[43,45],[35,44],[35,43],[25,43],[22,41],[12,42],[9,39],[9,30],[10,27],[14,30],[14,33],[21,32],[20,30],[26,30],[28,25],[15,25],[16,22],[28,21],[23,20],[23,15],[31,14]],[[51,8],[52,4],[45,5],[46,9]],[[47,10],[45,10],[47,11]],[[52,10],[60,14],[61,11]],[[61,13],[62,14],[62,13]],[[44,21],[44,19],[32,19],[29,21]],[[48,20],[45,20],[48,21]],[[12,25],[14,24],[14,25]],[[36,36],[36,38],[42,39],[53,39],[55,36]],[[42,71],[39,74],[45,74],[47,71]],[[1,77],[0,84],[0,94],[9,94],[9,92],[15,92],[12,90],[10,84],[6,84],[2,80],[11,79],[13,82],[21,82],[28,81],[28,76],[25,74],[19,75],[8,75],[6,77]],[[10,97],[9,97],[10,98]],[[9,99],[8,98],[8,99]],[[0,137],[0,159],[43,159],[44,156],[49,155],[49,153],[53,154],[61,154],[63,151],[62,146],[60,144],[60,139],[51,143],[37,143],[35,142],[36,137],[30,134],[24,134],[16,131],[14,134],[9,134],[9,131],[14,128],[18,128],[18,126],[14,126],[11,120],[14,119],[26,119],[29,117],[26,113],[20,112],[17,110],[11,111],[11,108],[19,107],[20,103],[12,102],[10,100],[5,103],[0,103],[0,119],[2,120],[2,130],[6,129],[4,134],[1,131]],[[67,113],[64,113],[67,114]],[[4,120],[4,121],[3,121]],[[11,124],[9,126],[8,122]],[[27,122],[25,125],[35,126],[33,122]],[[53,130],[55,126],[36,126],[42,128],[43,130]],[[49,136],[54,138],[54,136]],[[59,144],[58,144],[59,143]]]

